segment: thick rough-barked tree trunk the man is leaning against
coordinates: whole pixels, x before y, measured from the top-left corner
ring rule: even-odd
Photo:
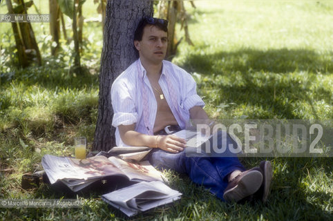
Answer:
[[[153,15],[151,0],[107,2],[94,150],[108,151],[115,146],[115,128],[111,125],[111,85],[115,78],[137,59],[133,48],[134,30],[140,19],[147,15]]]

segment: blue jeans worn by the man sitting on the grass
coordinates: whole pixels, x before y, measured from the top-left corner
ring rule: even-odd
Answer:
[[[223,137],[227,142],[222,142],[222,134],[218,134],[218,148],[223,143],[236,145],[229,135]],[[159,148],[149,153],[149,162],[158,169],[187,173],[194,183],[202,184],[221,200],[228,184],[227,175],[236,170],[245,171],[237,157],[187,157],[185,151],[170,153]]]

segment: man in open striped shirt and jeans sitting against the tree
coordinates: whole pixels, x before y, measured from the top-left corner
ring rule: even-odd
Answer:
[[[186,141],[171,133],[187,122],[209,123],[196,82],[185,70],[164,61],[167,52],[167,20],[144,17],[135,30],[139,59],[117,79],[112,89],[113,126],[117,146],[149,146],[149,162],[160,169],[187,173],[196,184],[228,202],[260,193],[267,199],[272,180],[270,162],[245,170],[237,157],[187,157]],[[218,146],[222,146],[219,135]],[[227,145],[234,144],[229,137]]]

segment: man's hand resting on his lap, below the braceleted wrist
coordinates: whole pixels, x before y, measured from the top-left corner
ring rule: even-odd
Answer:
[[[156,144],[158,144],[158,148],[163,151],[179,153],[184,150],[186,141],[173,135],[158,135]]]

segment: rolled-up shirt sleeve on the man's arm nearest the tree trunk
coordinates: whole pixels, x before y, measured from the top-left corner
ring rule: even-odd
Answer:
[[[138,120],[133,93],[128,85],[122,81],[115,81],[111,88],[111,102],[113,106],[112,126],[131,125]]]

